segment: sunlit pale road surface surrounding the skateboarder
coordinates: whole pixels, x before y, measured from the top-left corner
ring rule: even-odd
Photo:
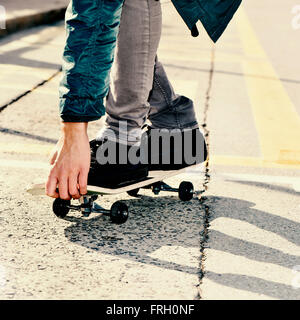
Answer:
[[[194,99],[210,148],[207,167],[168,182],[205,192],[189,203],[150,191],[101,198],[130,206],[120,226],[59,220],[51,199],[25,192],[47,175],[59,136],[63,24],[1,41],[0,298],[300,298],[300,29],[297,3],[275,2],[245,4],[216,45],[163,4],[159,59]]]

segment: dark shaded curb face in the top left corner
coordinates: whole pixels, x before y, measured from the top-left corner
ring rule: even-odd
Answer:
[[[6,29],[0,30],[0,39],[17,31],[63,20],[65,17],[65,12],[66,7],[63,7],[45,12],[38,12],[23,17],[8,19],[6,21]]]

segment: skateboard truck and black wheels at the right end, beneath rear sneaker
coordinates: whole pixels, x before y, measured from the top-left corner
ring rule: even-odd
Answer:
[[[179,185],[179,188],[172,188],[168,184],[164,183],[163,181],[156,182],[150,186],[143,187],[144,189],[151,189],[155,195],[158,195],[161,191],[169,191],[169,192],[177,192],[179,199],[182,201],[189,201],[194,196],[194,186],[189,181],[182,181]],[[130,190],[127,193],[132,196],[136,197],[139,193],[139,188]]]

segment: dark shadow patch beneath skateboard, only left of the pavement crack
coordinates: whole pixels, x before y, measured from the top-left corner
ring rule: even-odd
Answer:
[[[198,274],[198,268],[151,258],[149,254],[162,246],[199,248],[202,215],[199,200],[190,202],[193,210],[175,197],[141,196],[124,202],[130,208],[127,223],[115,225],[102,216],[91,219],[69,217],[67,219],[75,224],[65,229],[66,237],[104,254]]]

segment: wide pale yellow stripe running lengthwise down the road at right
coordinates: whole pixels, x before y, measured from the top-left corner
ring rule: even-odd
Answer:
[[[300,164],[300,118],[266,53],[260,45],[243,8],[237,14],[245,77],[264,161]],[[276,80],[274,80],[276,79]]]

